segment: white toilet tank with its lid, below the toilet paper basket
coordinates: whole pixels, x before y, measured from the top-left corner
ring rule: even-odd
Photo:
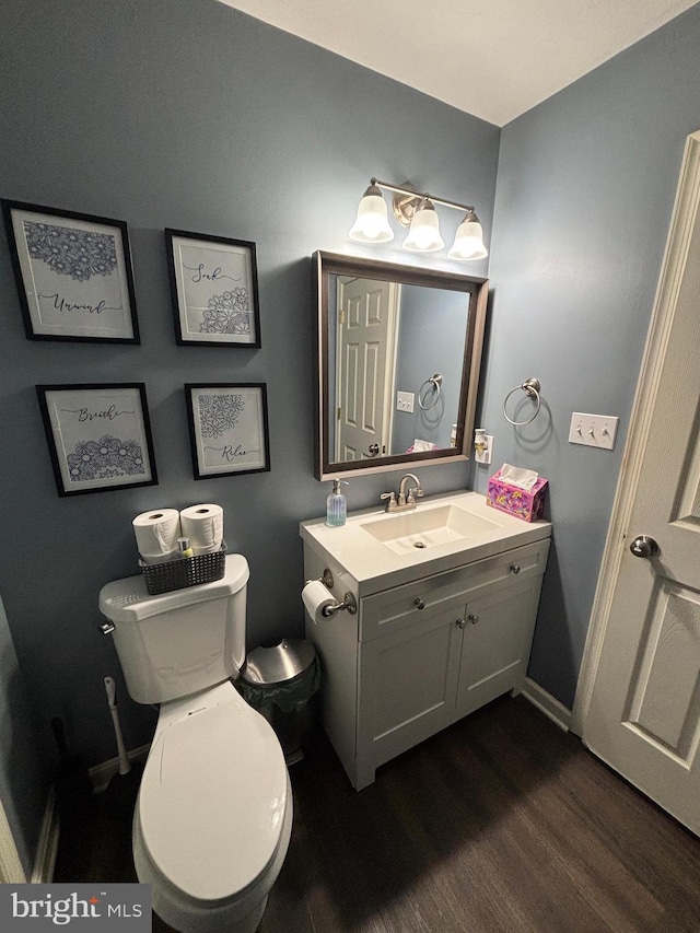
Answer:
[[[100,611],[114,625],[129,696],[164,703],[236,677],[245,661],[249,571],[226,556],[221,580],[150,596],[142,575],[107,583]]]

